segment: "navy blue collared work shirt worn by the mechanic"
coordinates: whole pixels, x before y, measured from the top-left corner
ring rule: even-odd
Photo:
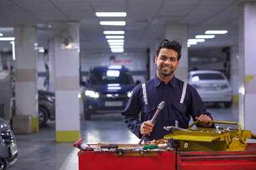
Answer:
[[[153,118],[158,104],[162,101],[164,101],[164,108],[158,114],[154,122],[153,131],[150,136],[146,136],[145,141],[159,140],[164,138],[164,135],[170,134],[170,131],[164,130],[164,126],[188,128],[191,117],[195,121],[195,117],[201,114],[210,116],[196,89],[189,84],[187,85],[184,101],[180,103],[183,84],[183,81],[175,77],[167,84],[158,79],[158,77],[154,77],[154,79],[146,82],[148,104],[144,103],[141,84],[137,85],[133,89],[125,110],[122,112],[123,120],[129,130],[138,138],[141,138],[141,124]]]

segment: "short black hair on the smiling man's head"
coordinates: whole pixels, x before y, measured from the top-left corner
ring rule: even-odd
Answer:
[[[181,59],[181,44],[177,41],[169,41],[167,39],[163,40],[162,42],[160,42],[158,49],[156,50],[156,56],[159,55],[159,52],[161,50],[161,48],[168,48],[168,49],[172,49],[176,52],[178,52],[178,60]]]

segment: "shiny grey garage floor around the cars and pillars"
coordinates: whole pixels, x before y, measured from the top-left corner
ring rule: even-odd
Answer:
[[[214,108],[207,105],[214,120],[238,122],[238,107],[225,109],[221,105]],[[117,114],[92,116],[84,121],[81,116],[81,135],[88,144],[98,142],[115,144],[134,144],[139,142]],[[55,122],[40,129],[40,132],[28,135],[15,135],[18,144],[18,161],[10,170],[65,170],[78,169],[77,148],[72,142],[55,142]]]

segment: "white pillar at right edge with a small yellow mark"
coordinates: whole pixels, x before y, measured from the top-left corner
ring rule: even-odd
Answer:
[[[256,133],[256,3],[239,5],[239,122],[246,130]],[[254,141],[255,142],[255,141]]]

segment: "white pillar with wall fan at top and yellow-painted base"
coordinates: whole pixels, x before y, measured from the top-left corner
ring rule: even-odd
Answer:
[[[73,142],[80,137],[79,24],[56,23],[54,30],[56,141]]]

